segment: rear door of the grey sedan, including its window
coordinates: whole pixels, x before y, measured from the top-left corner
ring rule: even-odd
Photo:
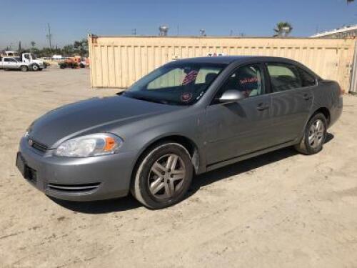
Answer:
[[[293,64],[267,63],[271,80],[271,118],[276,144],[301,136],[313,105],[316,79]]]

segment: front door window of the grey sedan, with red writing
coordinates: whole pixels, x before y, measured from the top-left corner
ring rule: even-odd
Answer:
[[[227,90],[238,90],[246,98],[264,93],[263,71],[258,64],[239,67],[231,74],[225,84],[219,89],[215,99],[219,99]]]

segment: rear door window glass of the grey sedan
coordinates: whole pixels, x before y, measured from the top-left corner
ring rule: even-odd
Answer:
[[[267,64],[267,67],[273,92],[303,87],[303,82],[296,66],[290,64]]]

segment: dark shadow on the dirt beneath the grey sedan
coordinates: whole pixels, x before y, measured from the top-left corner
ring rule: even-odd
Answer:
[[[330,142],[332,139],[333,134],[327,133],[325,143]],[[273,162],[280,161],[282,159],[293,157],[296,154],[298,154],[298,152],[296,152],[293,147],[287,147],[267,154],[262,154],[258,157],[246,159],[235,164],[230,164],[226,167],[221,167],[211,172],[206,172],[197,175],[195,178],[193,178],[191,187],[188,190],[188,194],[186,194],[185,199],[191,197],[201,187],[213,184],[214,182],[218,182],[221,179],[226,179],[231,176],[236,176],[249,172],[258,167],[263,167]],[[56,199],[54,197],[49,197],[49,199],[56,202],[56,204],[59,204],[61,207],[84,214],[106,214],[111,212],[124,212],[126,210],[143,207],[139,202],[136,201],[136,199],[134,199],[134,197],[131,196],[131,194],[129,194],[127,197],[122,197],[119,199],[109,199],[92,202],[72,202]]]

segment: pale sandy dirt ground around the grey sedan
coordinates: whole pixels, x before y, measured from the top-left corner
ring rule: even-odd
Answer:
[[[203,174],[183,202],[49,199],[19,174],[19,139],[50,109],[117,89],[88,70],[0,71],[0,267],[357,267],[357,97],[323,152],[291,149]]]

